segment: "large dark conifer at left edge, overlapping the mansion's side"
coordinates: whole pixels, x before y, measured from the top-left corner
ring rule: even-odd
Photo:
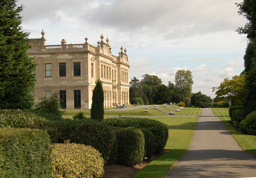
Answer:
[[[16,0],[0,1],[0,108],[31,108],[34,98],[30,94],[36,83],[36,64],[26,52],[29,33],[23,32]]]

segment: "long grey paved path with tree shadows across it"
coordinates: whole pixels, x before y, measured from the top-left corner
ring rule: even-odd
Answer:
[[[256,156],[242,150],[210,108],[202,108],[189,150],[167,177],[256,177]]]

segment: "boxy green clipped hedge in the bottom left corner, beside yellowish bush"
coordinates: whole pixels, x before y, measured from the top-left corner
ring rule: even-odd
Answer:
[[[52,146],[39,129],[0,128],[0,177],[52,177]]]

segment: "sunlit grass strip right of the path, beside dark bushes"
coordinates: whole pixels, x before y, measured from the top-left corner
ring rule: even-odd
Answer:
[[[213,109],[213,108],[212,108]],[[248,152],[256,154],[256,140],[255,136],[240,134],[234,129],[233,126],[229,124],[230,117],[228,116],[228,111],[214,111],[214,114],[218,116],[230,133],[234,136],[238,144]]]

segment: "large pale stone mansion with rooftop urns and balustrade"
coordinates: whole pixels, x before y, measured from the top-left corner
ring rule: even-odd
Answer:
[[[27,51],[35,57],[37,83],[34,87],[35,102],[43,96],[59,92],[62,108],[90,109],[92,91],[98,79],[104,90],[104,107],[117,103],[129,104],[129,62],[126,49],[121,47],[118,56],[112,55],[109,39],[92,46],[85,38],[84,44],[45,45],[44,30],[41,38],[29,40]]]

